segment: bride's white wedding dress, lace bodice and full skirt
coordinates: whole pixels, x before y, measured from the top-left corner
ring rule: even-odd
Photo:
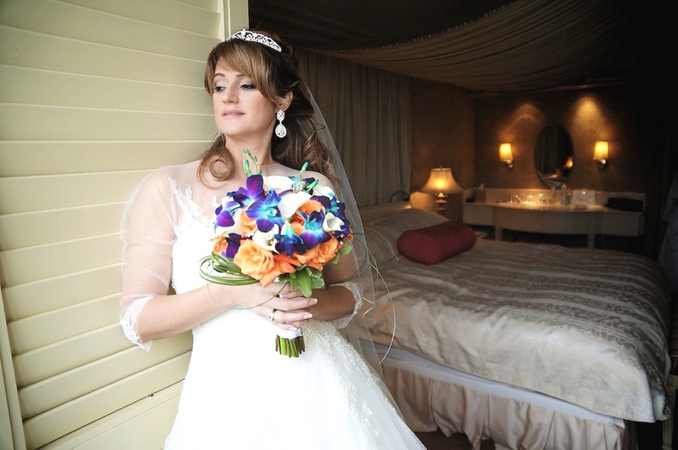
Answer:
[[[204,284],[198,261],[211,252],[213,211],[175,188],[172,285]],[[204,215],[206,214],[206,215]],[[333,323],[311,320],[305,353],[274,348],[267,320],[233,309],[193,330],[190,367],[165,450],[425,449],[383,382]]]

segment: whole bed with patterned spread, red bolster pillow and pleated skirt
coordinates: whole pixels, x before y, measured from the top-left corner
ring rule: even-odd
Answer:
[[[634,423],[672,415],[670,296],[653,261],[463,224],[441,235],[452,222],[407,202],[361,216],[380,274],[366,317],[413,430],[461,432],[474,450],[622,450]]]

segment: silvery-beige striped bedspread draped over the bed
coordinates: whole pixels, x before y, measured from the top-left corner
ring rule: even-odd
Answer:
[[[400,256],[375,286],[375,342],[601,414],[664,420],[669,306],[649,259],[479,240],[434,266]],[[395,324],[393,320],[395,319]]]

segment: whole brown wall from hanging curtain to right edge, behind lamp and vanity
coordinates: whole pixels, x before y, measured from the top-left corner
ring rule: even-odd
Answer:
[[[545,188],[534,168],[534,148],[545,125],[569,131],[573,189],[646,193],[646,254],[654,257],[664,167],[670,151],[668,121],[651,105],[647,86],[561,90],[520,95],[477,96],[429,81],[412,81],[413,170],[411,191],[425,184],[429,170],[451,167],[465,188]],[[665,93],[666,94],[666,93]],[[594,143],[607,140],[609,165],[593,161]],[[514,168],[499,160],[499,144],[510,142]],[[664,166],[663,166],[664,165]]]

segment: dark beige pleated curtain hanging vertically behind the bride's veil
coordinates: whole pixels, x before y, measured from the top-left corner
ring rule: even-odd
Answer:
[[[331,130],[359,206],[409,191],[410,81],[407,76],[300,51],[309,84]]]

